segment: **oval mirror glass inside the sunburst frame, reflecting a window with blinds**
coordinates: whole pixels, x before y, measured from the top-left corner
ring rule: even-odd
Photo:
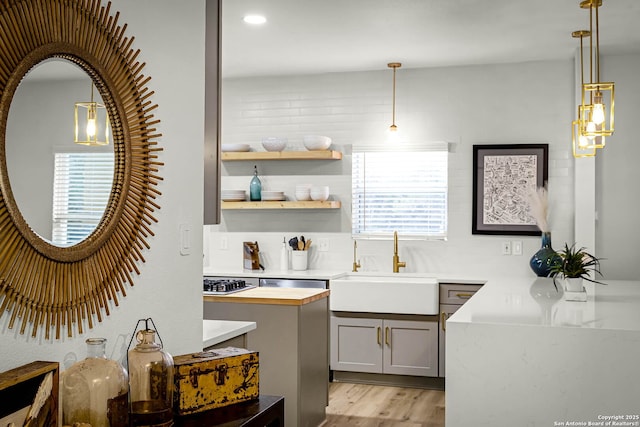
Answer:
[[[55,246],[91,234],[111,193],[113,143],[74,143],[74,104],[91,100],[92,84],[71,61],[48,59],[27,73],[9,109],[5,151],[13,197],[31,229]],[[93,101],[102,103],[95,87]],[[86,109],[80,114],[86,117]]]

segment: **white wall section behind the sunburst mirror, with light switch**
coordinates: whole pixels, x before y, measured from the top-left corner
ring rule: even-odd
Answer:
[[[166,349],[172,354],[201,350],[202,345],[202,164],[204,88],[204,1],[174,0],[112,1],[112,12],[120,11],[120,24],[135,36],[144,73],[152,77],[151,98],[159,105],[154,112],[162,122],[158,139],[164,152],[159,185],[162,209],[154,215],[151,250],[143,251],[141,274],[119,307],[111,308],[93,330],[82,336],[46,341],[8,330],[8,317],[0,319],[0,371],[33,360],[61,363],[86,355],[87,337],[108,339],[107,354],[120,358],[138,319],[152,317]],[[179,224],[191,225],[192,255],[179,253]]]

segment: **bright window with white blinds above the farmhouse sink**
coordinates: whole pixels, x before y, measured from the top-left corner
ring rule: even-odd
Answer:
[[[359,238],[447,234],[447,150],[355,152],[352,233]]]

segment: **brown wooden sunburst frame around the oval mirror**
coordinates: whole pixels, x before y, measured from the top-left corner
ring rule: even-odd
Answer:
[[[139,274],[162,179],[155,141],[161,135],[150,77],[132,49],[119,13],[100,0],[4,0],[0,3],[0,317],[7,327],[59,339],[83,333],[109,315]],[[86,73],[108,114],[113,180],[88,236],[71,245],[42,237],[16,202],[9,169],[7,121],[25,76],[60,59]],[[73,117],[73,105],[69,106]],[[37,125],[34,118],[33,125]],[[60,126],[73,126],[73,119]],[[73,145],[73,132],[69,144]],[[27,141],[28,142],[28,141]],[[9,160],[9,161],[8,161]],[[9,166],[9,167],[8,167]],[[20,166],[29,168],[29,165]]]

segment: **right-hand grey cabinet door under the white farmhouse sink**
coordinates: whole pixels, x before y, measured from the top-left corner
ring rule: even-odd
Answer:
[[[385,374],[438,375],[438,322],[385,320]]]

